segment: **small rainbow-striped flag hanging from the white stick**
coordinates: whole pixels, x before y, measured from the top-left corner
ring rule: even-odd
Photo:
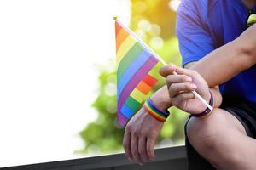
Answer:
[[[117,54],[117,117],[124,127],[134,113],[143,105],[148,93],[158,79],[149,74],[160,61],[129,28],[115,19]]]

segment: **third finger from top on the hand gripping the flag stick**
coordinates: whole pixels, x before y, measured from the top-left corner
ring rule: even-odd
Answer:
[[[180,83],[172,83],[169,88],[170,98],[174,98],[177,94],[181,92],[190,92],[196,89],[196,85],[191,82],[180,82]]]

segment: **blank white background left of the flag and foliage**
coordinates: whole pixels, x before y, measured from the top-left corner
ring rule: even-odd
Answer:
[[[128,0],[0,1],[0,167],[77,158]]]

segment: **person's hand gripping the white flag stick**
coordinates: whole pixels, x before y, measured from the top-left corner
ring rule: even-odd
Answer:
[[[172,105],[191,114],[199,114],[206,110],[207,106],[192,93],[192,90],[196,90],[207,102],[211,98],[207,82],[199,73],[176,65],[165,65],[160,69],[160,75],[166,77]]]

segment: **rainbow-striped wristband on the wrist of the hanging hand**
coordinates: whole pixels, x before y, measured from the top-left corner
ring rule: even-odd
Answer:
[[[166,118],[170,115],[168,111],[162,111],[154,105],[152,100],[148,98],[143,107],[148,113],[160,122],[166,122]]]

